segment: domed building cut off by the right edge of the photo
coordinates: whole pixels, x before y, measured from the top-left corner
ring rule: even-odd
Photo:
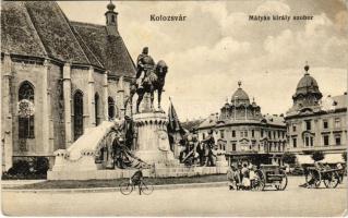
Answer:
[[[347,149],[347,93],[323,99],[317,82],[304,66],[286,113],[288,149],[296,154],[313,150],[343,153]]]

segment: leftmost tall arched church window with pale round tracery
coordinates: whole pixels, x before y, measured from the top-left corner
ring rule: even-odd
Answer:
[[[34,138],[34,86],[24,82],[19,89],[19,137]]]

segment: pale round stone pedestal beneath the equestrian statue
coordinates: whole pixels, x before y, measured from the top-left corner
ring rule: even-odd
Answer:
[[[137,113],[133,119],[137,129],[135,156],[147,164],[172,162],[175,158],[169,147],[166,113]]]

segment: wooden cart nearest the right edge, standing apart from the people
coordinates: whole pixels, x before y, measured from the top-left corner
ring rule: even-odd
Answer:
[[[307,187],[319,187],[324,182],[326,187],[335,189],[343,180],[345,168],[323,166],[320,164],[302,165]]]

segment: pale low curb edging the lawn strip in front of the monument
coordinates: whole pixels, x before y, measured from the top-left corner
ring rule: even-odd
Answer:
[[[177,189],[195,189],[195,187],[219,187],[226,186],[227,182],[211,182],[211,183],[187,183],[187,184],[164,184],[154,185],[154,190],[177,190]],[[119,192],[120,187],[94,187],[94,189],[55,189],[55,190],[16,190],[3,189],[1,192],[8,193],[103,193],[103,192]]]

